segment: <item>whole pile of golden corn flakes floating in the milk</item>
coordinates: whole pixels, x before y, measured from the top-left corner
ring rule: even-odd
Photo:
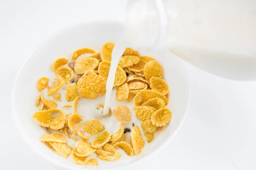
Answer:
[[[47,77],[41,77],[37,82],[38,91],[47,88],[47,96],[54,99],[45,99],[43,93],[36,99],[36,106],[40,111],[36,111],[33,118],[47,132],[40,137],[40,141],[64,158],[71,155],[76,164],[98,165],[96,158],[89,159],[92,153],[96,153],[101,160],[118,160],[121,154],[116,149],[119,148],[128,156],[138,155],[144,146],[139,126],[133,125],[131,130],[123,127],[131,122],[132,113],[128,107],[120,105],[113,109],[113,114],[122,125],[113,134],[105,130],[99,119],[83,121],[83,116],[76,109],[81,97],[96,99],[105,94],[114,45],[113,42],[107,42],[101,53],[90,48],[79,49],[73,53],[72,62],[67,58],[59,58],[52,63],[52,70],[56,75],[52,85],[49,85]],[[90,55],[79,57],[87,53]],[[163,68],[154,58],[140,56],[138,51],[131,48],[126,48],[116,70],[114,87],[119,86],[116,100],[130,102],[134,99],[133,110],[141,121],[147,142],[154,139],[158,127],[165,126],[172,119],[171,111],[165,108],[168,104],[169,86],[162,76]],[[67,87],[63,88],[64,84]],[[64,105],[63,108],[73,107],[73,113],[66,114],[57,108],[57,102],[62,101],[62,96],[58,93],[61,88],[66,90],[67,102],[73,101],[73,105]],[[101,104],[99,106],[104,107]],[[60,134],[52,133],[53,130],[58,130]],[[130,143],[122,140],[126,132],[131,132]],[[93,135],[96,137],[89,143],[87,140]],[[67,144],[65,136],[76,141],[73,147]]]

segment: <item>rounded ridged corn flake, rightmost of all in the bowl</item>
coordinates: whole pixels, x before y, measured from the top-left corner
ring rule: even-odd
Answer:
[[[165,126],[172,119],[172,112],[167,108],[161,108],[157,110],[151,116],[151,122],[157,127]]]

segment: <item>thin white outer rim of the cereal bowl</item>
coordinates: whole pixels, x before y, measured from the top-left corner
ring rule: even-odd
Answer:
[[[62,34],[68,30],[71,30],[77,26],[81,26],[81,25],[86,25],[86,24],[104,24],[104,23],[113,23],[113,24],[124,24],[122,21],[118,21],[118,20],[95,20],[95,21],[87,21],[87,22],[84,22],[84,23],[79,23],[79,24],[75,24],[75,25],[72,25],[72,26],[69,26],[67,28],[64,28],[62,29],[61,31],[58,32],[58,34]],[[15,126],[18,130],[18,132],[20,133],[21,135],[21,138],[23,139],[23,141],[29,145],[29,147],[35,151],[35,153],[37,153],[39,156],[41,156],[42,158],[46,159],[47,161],[51,162],[52,164],[55,164],[56,166],[58,167],[62,167],[62,168],[65,168],[65,169],[70,169],[72,168],[73,170],[81,170],[81,168],[77,168],[77,167],[68,167],[64,164],[59,164],[58,162],[56,162],[55,160],[53,159],[49,159],[46,155],[44,155],[43,153],[41,153],[40,151],[38,151],[34,145],[30,144],[31,142],[29,142],[29,139],[26,137],[26,135],[24,135],[24,132],[23,130],[21,130],[22,128],[20,128],[22,125],[20,124],[19,120],[18,120],[18,117],[17,117],[17,111],[15,109],[15,103],[14,103],[14,98],[15,98],[15,92],[16,92],[16,88],[17,88],[17,79],[18,77],[20,76],[20,72],[22,71],[24,65],[26,64],[26,62],[28,61],[28,59],[31,57],[31,55],[35,52],[35,50],[37,50],[38,48],[40,48],[42,45],[44,45],[46,42],[48,42],[49,40],[53,39],[54,37],[57,37],[58,35],[57,33],[55,34],[55,36],[52,36],[52,37],[49,37],[48,39],[44,40],[43,42],[41,42],[34,50],[32,50],[32,52],[28,55],[28,57],[25,59],[25,61],[23,62],[22,66],[20,67],[20,69],[17,71],[17,74],[15,76],[15,79],[12,83],[12,93],[11,93],[11,108],[12,108],[12,117],[14,119],[14,122],[15,122]],[[168,51],[169,53],[172,53],[171,51]],[[172,53],[173,54],[173,53]],[[175,55],[175,54],[173,54]],[[176,55],[175,55],[176,56]],[[187,101],[186,101],[186,110],[185,110],[185,113],[184,113],[184,116],[183,116],[183,119],[182,121],[180,122],[180,125],[177,127],[177,130],[175,131],[175,133],[172,135],[172,137],[170,137],[169,139],[167,139],[160,147],[157,148],[157,150],[153,150],[151,153],[148,153],[146,154],[145,156],[143,157],[140,157],[140,159],[138,160],[143,160],[145,158],[147,158],[148,156],[150,156],[151,154],[153,153],[157,153],[159,152],[160,150],[163,150],[164,147],[166,147],[170,142],[171,140],[176,136],[177,132],[180,130],[180,127],[181,125],[183,124],[184,122],[184,119],[186,117],[186,113],[188,111],[188,107],[189,107],[189,101],[190,101],[190,88],[189,88],[189,81],[188,81],[188,77],[187,77],[187,73],[186,73],[186,69],[184,68],[184,65],[183,65],[183,62],[181,59],[178,58],[178,62],[180,62],[180,65],[181,65],[181,68],[183,70],[183,73],[185,75],[185,82],[186,82],[186,92],[188,94],[187,96]],[[110,167],[110,168],[97,168],[98,170],[100,169],[118,169],[118,168],[124,168],[124,167],[130,167],[133,165],[133,163],[137,162],[138,160],[135,160],[135,161],[132,161],[130,164],[125,164],[125,165],[121,165],[119,167]],[[91,168],[86,168],[86,167],[82,167],[82,169],[86,170],[91,170]]]

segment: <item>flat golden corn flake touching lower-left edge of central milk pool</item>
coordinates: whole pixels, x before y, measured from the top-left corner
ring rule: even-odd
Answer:
[[[105,129],[105,127],[100,124],[99,119],[93,119],[87,122],[84,122],[84,132],[90,134],[90,135],[95,135],[99,132],[101,132],[102,130]]]

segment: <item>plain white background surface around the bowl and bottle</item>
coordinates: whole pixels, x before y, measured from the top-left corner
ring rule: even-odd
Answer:
[[[12,82],[44,40],[88,20],[123,20],[125,3],[0,0],[1,170],[61,170],[31,150],[18,133],[11,111]],[[184,66],[191,93],[180,131],[164,150],[124,170],[255,170],[256,82],[234,82]]]

